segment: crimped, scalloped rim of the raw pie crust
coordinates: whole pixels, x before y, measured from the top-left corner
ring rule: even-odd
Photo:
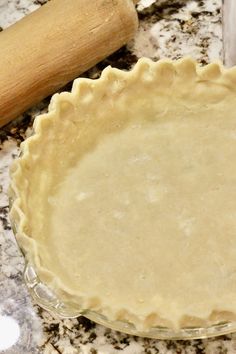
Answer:
[[[91,310],[89,308],[91,299],[84,299],[81,294],[73,294],[70,289],[62,284],[61,280],[55,274],[42,266],[37,241],[31,235],[27,234],[27,196],[24,192],[27,188],[28,180],[25,178],[25,172],[29,172],[30,168],[34,165],[34,157],[37,155],[37,151],[40,151],[42,136],[47,134],[49,129],[53,129],[55,124],[60,124],[60,117],[63,114],[61,113],[61,107],[63,105],[67,103],[71,105],[84,105],[89,109],[89,104],[91,101],[96,100],[99,94],[119,94],[126,85],[137,82],[140,85],[148,85],[149,82],[155,82],[160,87],[163,85],[163,92],[166,92],[172,89],[173,77],[179,83],[181,94],[184,97],[188,97],[189,95],[190,102],[193,105],[194,101],[198,100],[199,97],[202,100],[202,95],[201,92],[191,92],[189,90],[190,83],[198,82],[204,85],[204,83],[210,82],[227,90],[236,91],[236,68],[225,69],[221,63],[200,66],[191,58],[183,58],[177,61],[163,59],[158,62],[141,58],[130,71],[121,71],[116,68],[107,67],[103,70],[99,79],[76,79],[71,92],[62,92],[53,95],[48,107],[48,113],[41,114],[35,119],[33,125],[34,134],[21,144],[21,156],[14,161],[11,167],[9,195],[13,203],[10,210],[10,219],[12,225],[15,226],[16,239],[19,246],[25,254],[25,258],[35,266],[39,279],[46,280],[46,284],[50,284],[51,288],[62,299],[69,297],[73,305],[77,303],[78,309],[81,312]],[[116,82],[116,85],[113,85],[114,82]],[[218,93],[218,95],[220,94]],[[218,99],[219,97],[217,97]],[[214,104],[214,101],[213,98],[212,104]],[[105,303],[101,303],[100,308],[103,305],[104,308],[106,307]],[[95,307],[92,310],[96,311],[97,308]],[[190,323],[196,326],[207,326],[212,321],[218,320],[218,317],[220,320],[225,319],[227,316],[229,319],[235,319],[236,317],[235,314],[222,313],[223,318],[221,318],[212,309],[209,309],[207,318],[189,319],[186,317],[185,319],[180,318],[178,323],[171,323],[165,319],[161,319],[158,314],[149,314],[146,318],[137,318],[128,309],[123,311],[117,309],[115,313],[113,309],[108,309],[108,313],[109,319],[131,322],[137,329],[141,330],[147,330],[152,326],[158,325],[179,328],[188,326]]]

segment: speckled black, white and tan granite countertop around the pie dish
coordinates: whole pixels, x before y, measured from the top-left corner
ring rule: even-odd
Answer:
[[[46,1],[0,0],[0,31]],[[137,5],[140,28],[135,40],[84,76],[96,78],[108,64],[128,69],[141,56],[157,60],[191,55],[201,63],[221,59],[221,6],[221,0],[141,0]],[[68,84],[66,89],[70,87]],[[8,220],[8,171],[20,142],[30,134],[34,117],[46,110],[49,99],[0,129],[0,352],[8,345],[6,354],[236,353],[236,334],[193,341],[137,338],[95,325],[83,317],[53,318],[32,302],[22,280],[24,259]],[[6,335],[3,333],[7,320],[10,325]]]

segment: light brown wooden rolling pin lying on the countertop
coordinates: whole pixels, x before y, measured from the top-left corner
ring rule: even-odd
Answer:
[[[126,44],[132,0],[51,0],[0,33],[0,127]]]

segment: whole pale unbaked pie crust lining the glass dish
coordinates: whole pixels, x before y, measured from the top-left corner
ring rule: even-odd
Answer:
[[[235,68],[107,68],[34,129],[11,218],[60,298],[142,330],[236,317]]]

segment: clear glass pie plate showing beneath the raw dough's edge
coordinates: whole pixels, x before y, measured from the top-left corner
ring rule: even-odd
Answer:
[[[10,208],[14,201],[14,193],[9,190],[9,204]],[[11,219],[11,225],[14,235],[17,234],[17,222]],[[21,249],[23,255],[24,251]],[[186,327],[179,330],[173,330],[167,327],[152,327],[148,331],[141,332],[135,328],[132,323],[125,321],[111,321],[104,315],[82,309],[78,311],[71,306],[71,304],[62,301],[58,296],[45,285],[38,277],[37,271],[33,264],[30,264],[25,258],[24,281],[26,286],[34,299],[34,301],[43,309],[51,312],[53,315],[60,318],[76,318],[84,316],[105,327],[113,330],[127,333],[134,336],[154,338],[154,339],[198,339],[209,338],[228,334],[236,331],[236,322],[224,321],[215,323],[209,327]]]

